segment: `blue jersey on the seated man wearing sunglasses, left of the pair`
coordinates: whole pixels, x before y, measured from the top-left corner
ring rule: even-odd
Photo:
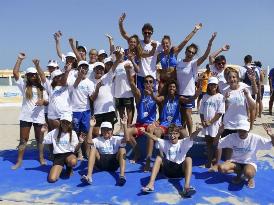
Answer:
[[[150,95],[141,94],[141,100],[136,105],[137,123],[151,124],[156,121],[156,102]]]

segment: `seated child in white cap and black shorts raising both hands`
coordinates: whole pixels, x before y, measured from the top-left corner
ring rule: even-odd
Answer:
[[[124,136],[114,136],[112,124],[103,122],[101,124],[101,135],[92,139],[92,129],[96,124],[96,119],[93,117],[90,120],[90,130],[87,138],[91,145],[91,150],[88,158],[88,173],[81,177],[83,183],[92,184],[94,166],[103,171],[116,171],[120,167],[120,176],[117,184],[123,186],[126,183],[125,146],[128,141],[126,116],[123,116],[121,123],[124,128]]]

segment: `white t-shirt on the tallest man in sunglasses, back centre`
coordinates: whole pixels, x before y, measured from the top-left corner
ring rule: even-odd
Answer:
[[[148,44],[145,44],[145,42],[141,41],[141,46],[143,48],[144,53],[149,53],[152,50],[152,46],[149,42]],[[157,48],[153,56],[147,57],[147,58],[141,58],[140,62],[140,72],[137,74],[138,76],[145,77],[147,75],[151,75],[154,79],[156,79],[156,61],[158,54],[163,50],[161,44],[156,41]]]

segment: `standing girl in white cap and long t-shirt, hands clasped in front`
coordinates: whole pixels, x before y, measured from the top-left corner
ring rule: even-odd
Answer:
[[[225,113],[224,96],[218,92],[218,79],[210,77],[208,79],[207,92],[203,95],[199,110],[200,119],[203,126],[202,134],[205,135],[207,145],[206,168],[212,167],[212,160],[216,152],[213,141],[221,126],[221,116]]]

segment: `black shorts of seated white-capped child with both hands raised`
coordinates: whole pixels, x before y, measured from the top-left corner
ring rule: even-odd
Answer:
[[[103,171],[116,171],[120,165],[117,154],[100,154],[100,160],[95,161],[95,166]]]

